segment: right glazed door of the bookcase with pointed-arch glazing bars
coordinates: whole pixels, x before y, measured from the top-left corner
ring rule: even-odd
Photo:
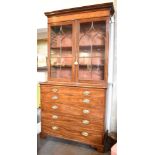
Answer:
[[[108,37],[106,19],[79,21],[78,80],[101,82],[106,79]]]

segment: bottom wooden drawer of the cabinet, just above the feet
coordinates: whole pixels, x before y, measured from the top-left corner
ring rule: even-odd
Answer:
[[[81,130],[80,128],[71,128],[65,124],[49,124],[48,122],[42,122],[42,132],[56,136],[60,138],[80,141],[88,144],[102,144],[103,132],[92,130]]]

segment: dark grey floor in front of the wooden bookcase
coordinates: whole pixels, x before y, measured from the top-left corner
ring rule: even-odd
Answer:
[[[37,151],[37,155],[110,155],[110,153],[99,153],[85,144],[53,137],[41,139],[39,135]]]

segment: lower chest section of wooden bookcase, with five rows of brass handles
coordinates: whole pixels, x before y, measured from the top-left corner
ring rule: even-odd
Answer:
[[[103,151],[105,89],[41,85],[41,135]]]

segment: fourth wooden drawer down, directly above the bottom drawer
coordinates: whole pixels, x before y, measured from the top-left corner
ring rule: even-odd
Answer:
[[[46,124],[50,125],[61,125],[65,124],[68,127],[71,127],[73,130],[76,130],[78,127],[81,130],[97,130],[103,131],[103,119],[97,120],[92,118],[80,118],[75,117],[69,114],[62,114],[62,113],[42,113],[42,122],[46,122]]]

